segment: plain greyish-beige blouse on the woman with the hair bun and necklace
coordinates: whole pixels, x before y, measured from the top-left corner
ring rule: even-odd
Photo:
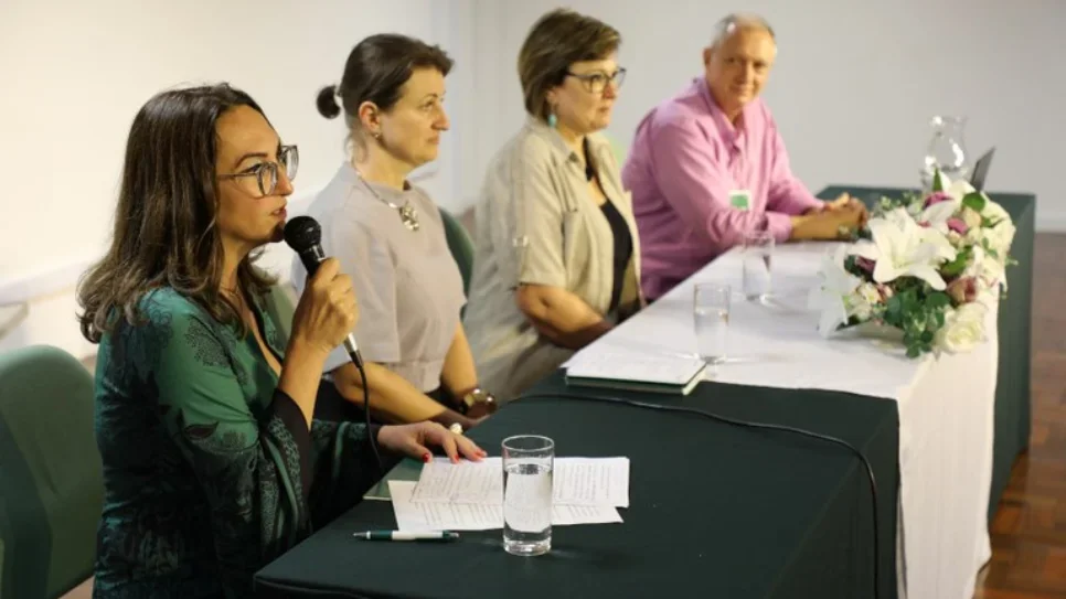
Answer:
[[[396,208],[417,212],[408,229]],[[396,190],[362,180],[348,162],[311,203],[308,215],[322,226],[322,250],[341,263],[359,300],[355,340],[377,362],[422,392],[440,386],[445,356],[466,302],[462,276],[445,236],[440,212],[416,186]],[[292,282],[302,292],[307,271],[297,256]],[[344,346],[326,361],[326,372],[349,362]]]

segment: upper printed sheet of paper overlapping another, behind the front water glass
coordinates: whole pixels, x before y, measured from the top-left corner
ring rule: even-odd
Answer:
[[[629,458],[555,458],[552,498],[556,505],[629,507]],[[501,505],[502,459],[436,459],[423,467],[412,501]]]

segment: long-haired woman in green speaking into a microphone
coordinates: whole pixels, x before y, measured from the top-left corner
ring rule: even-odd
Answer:
[[[226,85],[163,92],[137,114],[110,248],[82,281],[99,343],[104,466],[94,597],[250,597],[256,570],[350,507],[390,453],[484,454],[438,424],[313,418],[322,365],[356,320],[324,261],[287,343],[254,252],[281,239],[297,150]]]

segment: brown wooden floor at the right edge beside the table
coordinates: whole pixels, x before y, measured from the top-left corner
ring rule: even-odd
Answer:
[[[1036,236],[1033,431],[992,522],[974,599],[1066,598],[1066,235]]]

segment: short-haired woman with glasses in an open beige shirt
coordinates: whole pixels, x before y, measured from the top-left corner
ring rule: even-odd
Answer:
[[[478,371],[514,398],[642,306],[629,194],[600,133],[626,71],[618,32],[558,9],[519,54],[525,125],[477,206],[466,323]]]

